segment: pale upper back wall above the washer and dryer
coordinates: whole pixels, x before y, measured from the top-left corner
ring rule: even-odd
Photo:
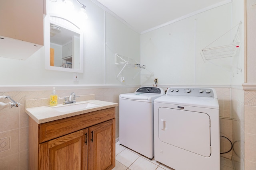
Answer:
[[[141,84],[229,85],[231,57],[204,62],[201,49],[232,28],[232,3],[141,35]],[[228,45],[229,32],[208,47]],[[149,76],[153,72],[154,76]]]

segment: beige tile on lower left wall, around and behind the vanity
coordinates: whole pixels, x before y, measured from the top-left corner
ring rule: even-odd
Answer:
[[[119,95],[137,90],[132,88],[90,88],[58,90],[58,97],[69,96],[71,92],[76,95],[94,94],[96,100],[119,103]],[[0,170],[28,170],[28,115],[25,113],[25,100],[50,98],[52,90],[1,92],[0,96],[10,96],[19,107],[0,110]],[[8,99],[0,99],[8,103]],[[62,101],[59,100],[59,104]],[[119,107],[116,107],[116,138],[119,137]],[[10,143],[9,143],[10,142]],[[1,150],[2,149],[2,150]]]

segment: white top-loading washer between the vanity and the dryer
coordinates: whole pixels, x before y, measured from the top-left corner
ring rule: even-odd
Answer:
[[[158,87],[141,87],[119,96],[119,143],[146,157],[154,157],[154,100]]]

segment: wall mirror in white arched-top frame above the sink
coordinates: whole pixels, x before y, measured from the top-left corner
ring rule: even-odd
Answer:
[[[83,72],[83,34],[80,28],[58,14],[44,18],[45,68]]]

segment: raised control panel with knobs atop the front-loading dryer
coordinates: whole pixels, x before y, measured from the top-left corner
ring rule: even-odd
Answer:
[[[168,88],[166,95],[214,98],[216,94],[212,88]]]

